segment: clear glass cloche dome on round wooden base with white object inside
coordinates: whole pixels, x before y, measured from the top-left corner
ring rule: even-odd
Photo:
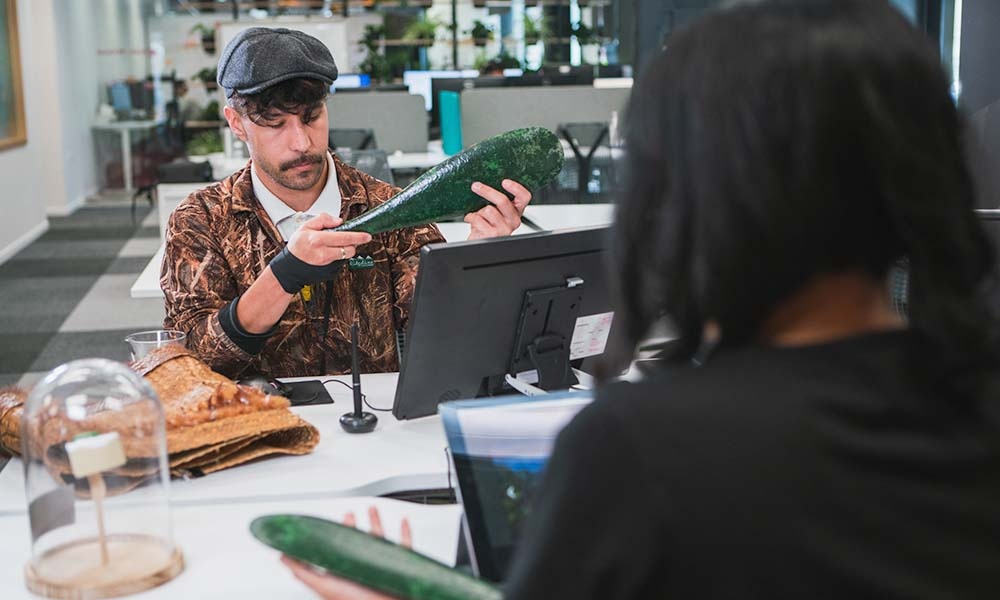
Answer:
[[[22,439],[32,592],[119,596],[183,570],[163,408],[142,377],[103,359],[54,369],[28,396]]]

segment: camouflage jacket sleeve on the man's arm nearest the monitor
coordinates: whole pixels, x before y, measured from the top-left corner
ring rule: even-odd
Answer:
[[[399,193],[399,188],[381,181],[376,181],[376,186],[370,193],[379,197],[380,202]],[[427,244],[443,242],[445,239],[434,224],[394,229],[382,235],[392,270],[393,316],[396,328],[406,329],[410,317],[410,304],[413,302],[413,289],[417,283],[420,249]]]

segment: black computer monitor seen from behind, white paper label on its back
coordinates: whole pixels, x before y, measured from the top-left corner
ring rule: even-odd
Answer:
[[[599,227],[422,248],[396,418],[434,414],[449,400],[514,393],[508,373],[531,381],[535,371],[545,389],[572,385],[570,367],[592,374],[619,335],[607,237]]]

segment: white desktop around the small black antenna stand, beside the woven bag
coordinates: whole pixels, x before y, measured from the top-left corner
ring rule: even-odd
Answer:
[[[392,406],[396,378],[396,373],[361,377],[372,406]],[[330,379],[350,382],[350,376]],[[339,419],[353,406],[351,390],[334,383],[326,387],[333,404],[292,409],[319,429],[320,442],[312,453],[271,457],[198,479],[174,480],[173,505],[380,496],[448,487],[447,442],[439,417],[397,421],[392,413],[379,412],[373,433],[347,434]],[[14,459],[0,471],[0,516],[25,512],[21,465]]]

